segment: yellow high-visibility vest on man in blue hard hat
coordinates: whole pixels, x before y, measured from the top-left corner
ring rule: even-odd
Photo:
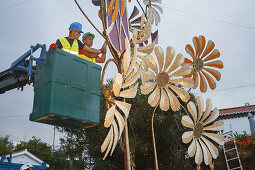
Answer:
[[[60,43],[62,44],[62,50],[71,53],[73,55],[79,56],[79,45],[78,41],[74,39],[72,47],[70,46],[69,42],[66,38],[59,38]]]

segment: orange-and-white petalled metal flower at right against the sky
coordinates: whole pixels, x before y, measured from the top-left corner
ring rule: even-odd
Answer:
[[[214,79],[209,75],[211,74],[217,81],[220,80],[221,74],[219,71],[212,69],[223,68],[223,63],[221,60],[214,60],[220,57],[220,52],[217,49],[214,49],[215,44],[213,41],[209,40],[207,46],[205,48],[206,40],[204,36],[199,36],[193,38],[193,44],[195,46],[195,50],[192,48],[190,44],[186,45],[186,52],[192,57],[193,61],[188,58],[185,58],[185,63],[188,63],[193,66],[193,70],[191,74],[186,77],[192,77],[194,80],[194,88],[198,87],[198,79],[200,79],[200,91],[207,91],[207,83],[206,80],[212,90],[216,88],[216,83]],[[209,74],[208,74],[209,73]],[[198,77],[199,75],[199,77]],[[206,78],[206,80],[205,80]]]

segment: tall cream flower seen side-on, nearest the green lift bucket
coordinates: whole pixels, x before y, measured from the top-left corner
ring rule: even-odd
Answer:
[[[106,128],[110,127],[110,130],[101,145],[101,152],[106,151],[103,159],[107,157],[110,151],[112,155],[117,141],[120,139],[123,129],[126,126],[125,120],[128,118],[131,104],[120,100],[120,98],[134,98],[138,89],[137,80],[139,78],[139,70],[134,71],[137,58],[136,47],[133,48],[132,57],[128,39],[125,39],[125,47],[126,52],[122,60],[123,71],[115,77],[112,90],[110,91],[110,93],[113,93],[112,96],[110,95],[111,107],[105,115],[104,126]]]

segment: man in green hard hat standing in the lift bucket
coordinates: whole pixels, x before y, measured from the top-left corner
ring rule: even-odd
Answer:
[[[92,47],[93,45],[93,40],[95,38],[95,35],[90,33],[90,32],[86,32],[83,36],[82,36],[82,42],[85,44],[85,46],[88,47]],[[105,56],[106,56],[106,42],[103,44],[102,48],[101,48],[101,57],[99,57],[99,55],[96,55],[95,53],[91,53],[88,50],[80,50],[79,51],[79,57],[88,60],[90,62],[93,63],[104,63],[105,62]]]

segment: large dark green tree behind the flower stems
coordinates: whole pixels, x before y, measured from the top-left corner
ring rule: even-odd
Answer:
[[[110,81],[109,81],[110,82]],[[194,97],[192,97],[193,99]],[[129,140],[131,157],[136,169],[153,168],[153,146],[151,138],[151,114],[153,108],[147,103],[147,96],[138,91],[137,97],[127,101],[132,103],[130,117],[128,118]],[[185,105],[185,103],[182,103]],[[155,116],[155,137],[157,143],[158,160],[160,168],[181,168],[193,166],[193,160],[185,159],[186,145],[181,141],[184,132],[180,124],[183,110],[176,113],[163,112],[157,109]],[[61,139],[61,147],[74,161],[79,158],[79,164],[84,167],[92,166],[94,169],[123,169],[124,158],[119,142],[112,156],[103,160],[100,152],[101,144],[107,135],[108,129],[104,127],[105,99],[101,98],[100,124],[84,129],[63,129],[66,135]]]

